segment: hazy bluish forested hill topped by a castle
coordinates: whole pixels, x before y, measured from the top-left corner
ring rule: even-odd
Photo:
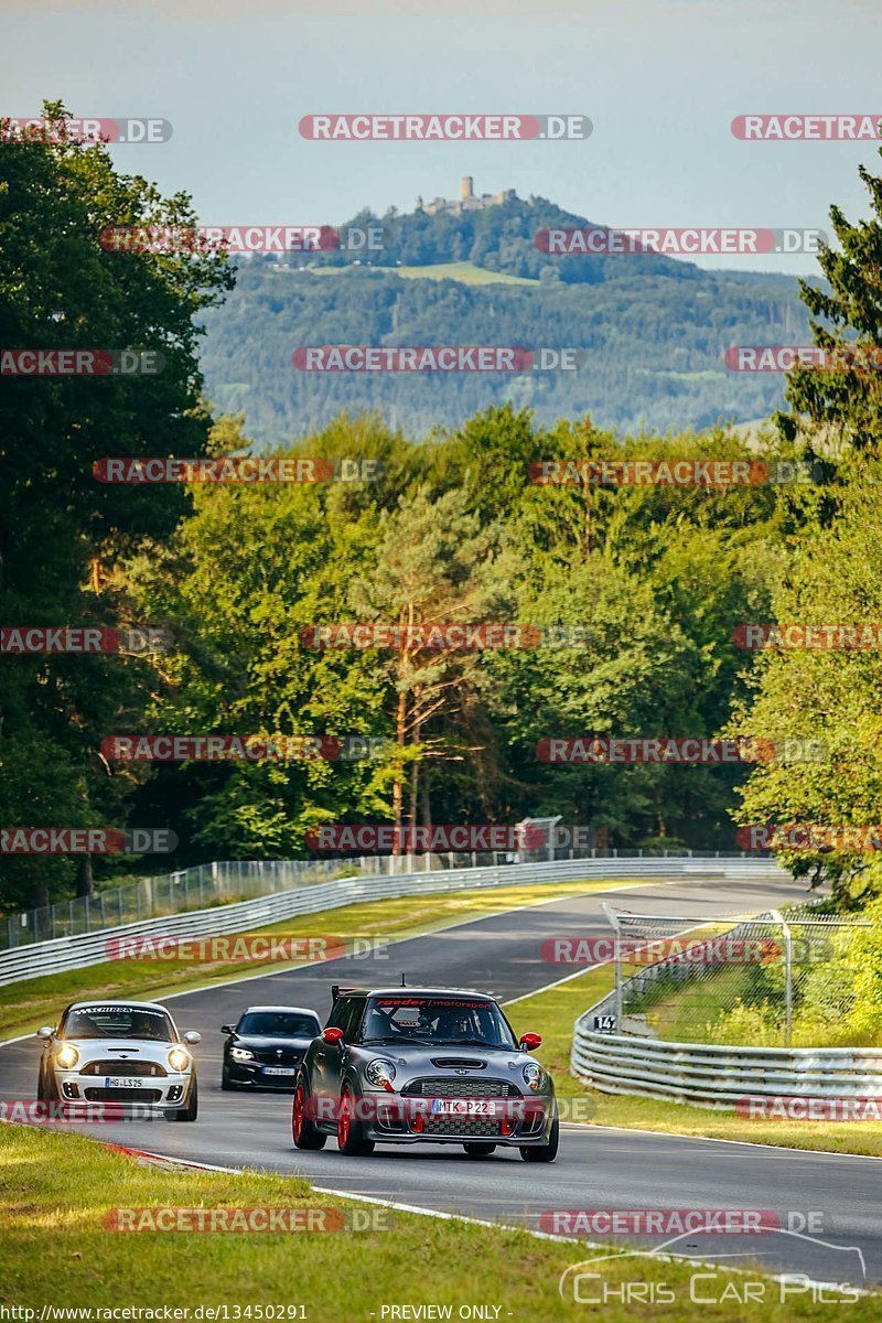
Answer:
[[[729,372],[723,353],[805,341],[795,279],[655,254],[551,257],[536,246],[540,229],[590,224],[545,198],[459,214],[362,212],[348,225],[382,226],[381,253],[243,259],[235,291],[206,318],[208,393],[220,409],[245,410],[264,445],[344,409],[377,409],[423,435],[506,400],[542,422],[588,413],[620,431],[743,422],[780,405],[780,376]],[[296,372],[294,349],[316,344],[512,344],[586,356],[578,372],[517,376]]]

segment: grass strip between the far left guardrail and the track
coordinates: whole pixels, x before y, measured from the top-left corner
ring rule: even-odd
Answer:
[[[628,885],[625,881],[615,886]],[[594,878],[583,882],[549,882],[542,886],[497,886],[403,896],[397,900],[365,901],[317,914],[283,919],[254,933],[296,934],[298,937],[382,937],[401,939],[435,931],[448,923],[483,918],[520,905],[586,892],[608,890],[610,882]],[[86,970],[50,974],[0,988],[0,1037],[36,1032],[41,1024],[57,1023],[67,1002],[89,996],[138,996],[155,999],[169,992],[209,987],[234,976],[271,972],[291,966],[250,960],[194,964],[192,960],[112,960]]]

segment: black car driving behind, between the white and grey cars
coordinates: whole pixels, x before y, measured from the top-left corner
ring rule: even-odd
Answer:
[[[301,1005],[250,1005],[221,1033],[227,1036],[221,1089],[292,1089],[321,1021]]]

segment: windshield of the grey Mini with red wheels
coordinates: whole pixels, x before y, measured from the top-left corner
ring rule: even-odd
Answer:
[[[485,1048],[517,1045],[500,1008],[476,998],[374,998],[368,1005],[362,1041],[380,1040]]]

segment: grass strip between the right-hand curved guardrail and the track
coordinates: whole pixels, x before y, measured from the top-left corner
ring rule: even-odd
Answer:
[[[717,1111],[682,1102],[632,1098],[588,1089],[570,1074],[575,1019],[614,987],[612,966],[591,970],[557,988],[518,1000],[506,1013],[517,1029],[542,1035],[536,1056],[554,1073],[562,1098],[583,1098],[594,1109],[590,1125],[657,1130],[706,1139],[778,1144],[782,1148],[829,1150],[882,1156],[882,1126],[875,1122],[751,1121],[734,1111]]]

